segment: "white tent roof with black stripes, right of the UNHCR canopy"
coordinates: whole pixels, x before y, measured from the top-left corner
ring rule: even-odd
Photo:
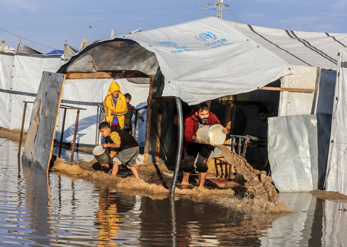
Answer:
[[[346,33],[316,33],[225,23],[292,65],[336,69],[336,55],[347,47]]]

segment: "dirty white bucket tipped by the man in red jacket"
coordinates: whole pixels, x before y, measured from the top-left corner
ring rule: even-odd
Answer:
[[[226,134],[223,133],[223,126],[216,125],[204,125],[198,128],[196,137],[199,138],[201,143],[209,144],[212,146],[221,145],[224,143]]]

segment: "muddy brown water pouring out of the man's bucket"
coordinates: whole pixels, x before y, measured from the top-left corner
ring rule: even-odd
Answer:
[[[242,174],[246,180],[245,186],[252,195],[263,201],[278,204],[276,188],[271,184],[271,178],[266,176],[265,171],[253,169],[246,159],[230,151],[228,147],[223,145],[217,147],[224,154],[226,161],[235,165],[237,172]]]

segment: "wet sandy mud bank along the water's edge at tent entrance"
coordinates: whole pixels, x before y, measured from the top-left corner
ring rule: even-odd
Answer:
[[[78,176],[79,178],[88,179],[98,185],[108,185],[117,190],[131,190],[136,193],[151,196],[152,198],[162,198],[169,195],[172,177],[165,176],[163,172],[171,172],[165,164],[147,163],[137,165],[140,179],[132,177],[131,171],[120,171],[120,175],[111,176],[108,170],[95,170],[93,166],[98,164],[96,159],[86,161],[68,161],[53,155],[51,170],[66,175]],[[159,173],[159,174],[158,174]],[[155,182],[155,183],[153,183]],[[181,196],[210,196],[210,195],[233,195],[232,189],[217,188],[198,188],[193,185],[176,188],[175,195]]]

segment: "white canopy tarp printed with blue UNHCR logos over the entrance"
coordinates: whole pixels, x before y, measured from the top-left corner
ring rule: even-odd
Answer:
[[[158,66],[165,76],[162,96],[189,104],[253,91],[293,71],[232,25],[207,17],[94,42],[58,72],[139,70],[153,76]]]

